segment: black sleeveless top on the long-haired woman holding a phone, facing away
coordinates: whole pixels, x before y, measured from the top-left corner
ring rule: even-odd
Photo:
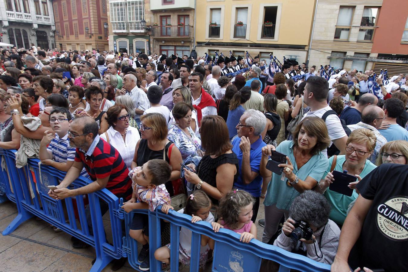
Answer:
[[[211,158],[209,155],[205,155],[200,163],[197,166],[197,175],[205,181],[206,183],[210,184],[211,186],[217,188],[217,167],[222,164],[235,164],[237,168],[237,173],[234,176],[234,183],[237,181],[238,178],[238,159],[235,153],[226,153],[222,154],[221,156],[216,157],[215,159]],[[210,197],[213,204],[217,205],[218,200]]]

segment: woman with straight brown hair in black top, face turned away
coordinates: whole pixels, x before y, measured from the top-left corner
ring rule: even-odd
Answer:
[[[188,165],[195,172],[184,168],[184,176],[195,188],[206,192],[213,204],[218,204],[218,200],[226,195],[237,181],[238,159],[231,150],[228,128],[221,116],[205,116],[201,121],[200,134],[205,155],[197,170],[195,165]]]

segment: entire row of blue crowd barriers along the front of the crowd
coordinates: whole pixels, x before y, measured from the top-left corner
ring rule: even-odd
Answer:
[[[161,263],[154,258],[154,252],[161,246],[160,219],[170,222],[171,240],[171,271],[178,271],[179,233],[180,227],[193,232],[191,239],[190,271],[198,271],[200,257],[201,235],[215,240],[212,271],[258,271],[262,259],[269,259],[280,264],[279,271],[289,271],[291,268],[301,271],[329,271],[330,265],[312,261],[305,256],[290,253],[273,245],[267,245],[253,239],[250,243],[239,241],[239,235],[231,230],[221,229],[215,233],[207,222],[191,223],[191,217],[179,212],[170,211],[168,215],[161,211],[133,210],[124,212],[120,208],[122,199],[118,199],[109,190],[102,189],[87,195],[89,200],[89,216],[86,215],[86,205],[83,196],[76,196],[76,208],[72,198],[63,201],[48,196],[47,186],[57,185],[64,178],[65,172],[51,166],[39,164],[38,159],[29,159],[27,166],[16,168],[16,150],[3,150],[2,156],[7,164],[7,172],[0,172],[1,188],[18,208],[18,215],[3,231],[10,234],[27,219],[37,216],[57,226],[95,248],[96,261],[91,271],[101,271],[113,259],[128,257],[129,264],[139,270],[137,262],[137,241],[129,236],[130,224],[134,213],[144,213],[149,217],[150,271],[161,271]],[[73,182],[74,188],[86,186],[91,181],[79,177]],[[106,240],[106,230],[102,221],[101,205],[103,201],[109,206],[111,220],[111,243]],[[104,206],[106,206],[104,204]],[[158,207],[157,210],[160,210]],[[75,218],[75,209],[78,216]],[[64,212],[65,211],[65,212]],[[91,222],[89,222],[91,220]],[[122,221],[126,233],[122,234]],[[91,229],[89,229],[91,225]],[[140,247],[139,247],[140,248]]]

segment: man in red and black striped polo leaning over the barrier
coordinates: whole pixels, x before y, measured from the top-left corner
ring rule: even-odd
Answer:
[[[59,123],[59,121],[55,122]],[[50,197],[64,199],[89,194],[106,188],[118,198],[131,199],[132,182],[128,176],[129,170],[118,150],[101,139],[98,135],[98,130],[98,124],[89,116],[76,117],[69,124],[67,134],[70,146],[76,147],[75,160],[69,168],[67,175],[57,186],[58,189],[49,191]],[[77,189],[68,189],[67,187],[79,177],[84,166],[93,182]],[[100,200],[100,209],[102,215],[104,215],[109,210],[109,206],[105,201]],[[89,206],[85,208],[85,214],[89,232],[93,234]],[[82,241],[75,241],[73,246],[75,248],[85,248],[86,244]]]

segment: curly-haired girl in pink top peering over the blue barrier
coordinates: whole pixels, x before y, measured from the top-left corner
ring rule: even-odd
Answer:
[[[256,237],[256,227],[251,221],[254,203],[255,199],[250,193],[233,189],[220,199],[217,209],[221,226],[241,234],[239,241],[244,243],[249,243]],[[213,241],[210,239],[210,246],[211,243]]]

